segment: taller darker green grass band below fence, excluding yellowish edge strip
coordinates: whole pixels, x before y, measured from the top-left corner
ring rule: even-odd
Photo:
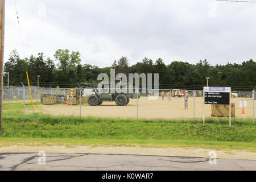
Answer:
[[[27,115],[28,116],[28,115]],[[156,139],[255,142],[255,126],[237,122],[229,128],[224,119],[199,121],[146,121],[30,114],[26,119],[4,118],[0,137]]]

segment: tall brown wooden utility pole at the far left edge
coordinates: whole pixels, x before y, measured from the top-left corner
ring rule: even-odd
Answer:
[[[5,45],[5,0],[0,0],[0,131],[2,130],[4,45]]]

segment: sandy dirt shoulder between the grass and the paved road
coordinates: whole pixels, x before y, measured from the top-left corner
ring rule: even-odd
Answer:
[[[112,147],[112,146],[7,146],[0,147],[0,153],[8,152],[39,152],[46,153],[83,153],[83,154],[131,154],[131,155],[159,155],[159,156],[191,156],[209,158],[209,152],[215,151],[221,159],[249,159],[256,160],[255,152],[243,150],[211,150],[204,148],[151,148],[151,147]]]

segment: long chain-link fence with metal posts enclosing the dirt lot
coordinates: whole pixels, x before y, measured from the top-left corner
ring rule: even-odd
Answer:
[[[74,89],[73,105],[70,104],[69,90]],[[185,109],[185,90],[140,89],[137,97],[129,99],[126,106],[117,106],[106,100],[100,105],[90,106],[86,99],[93,88],[40,88],[3,87],[3,115],[23,118],[31,114],[67,115],[75,117],[133,118],[133,119],[200,119],[203,117],[203,90],[187,90],[188,109]],[[107,89],[108,90],[108,89]],[[105,90],[106,91],[106,90]],[[80,97],[81,96],[81,97]],[[106,97],[111,97],[106,94]],[[31,104],[33,102],[33,107]],[[68,103],[67,103],[68,102]],[[234,118],[249,118],[254,122],[255,91],[232,92]],[[5,107],[6,105],[6,107]],[[18,105],[18,106],[17,106]],[[13,106],[13,108],[12,108]],[[5,109],[6,108],[6,109]],[[205,105],[205,117],[226,117],[228,106]]]

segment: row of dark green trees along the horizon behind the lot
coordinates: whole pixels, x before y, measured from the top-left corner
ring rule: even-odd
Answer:
[[[134,65],[129,64],[127,57],[114,60],[109,67],[99,68],[96,65],[81,64],[80,53],[59,49],[53,56],[54,59],[44,56],[44,53],[31,55],[21,59],[19,53],[11,51],[9,60],[4,66],[4,86],[7,84],[7,72],[9,82],[13,86],[20,86],[20,82],[27,82],[26,71],[30,76],[32,85],[37,85],[40,75],[40,86],[66,87],[77,82],[98,82],[100,73],[110,75],[110,69],[115,73],[159,73],[160,88],[171,88],[183,86],[186,89],[206,85],[206,77],[210,77],[210,86],[236,86],[251,90],[256,85],[256,63],[252,59],[243,61],[242,64],[210,65],[208,60],[200,60],[196,64],[183,61],[170,61],[164,64],[159,58],[155,61],[148,57],[138,61]]]

